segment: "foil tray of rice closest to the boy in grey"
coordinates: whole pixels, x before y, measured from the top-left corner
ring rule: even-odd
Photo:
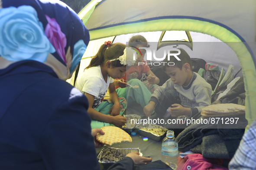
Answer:
[[[168,129],[166,129],[166,128],[162,127],[162,126],[159,126],[159,125],[155,125],[155,124],[151,124],[151,126],[154,129],[164,129],[165,132],[163,132],[161,135],[154,134],[154,133],[149,132],[146,129],[144,129],[144,128],[147,128],[148,125],[143,126],[143,124],[140,124],[140,125],[136,126],[136,128],[138,129],[139,135],[143,135],[143,136],[148,137],[149,139],[152,139],[152,140],[157,141],[157,142],[161,141],[165,137],[166,131]]]

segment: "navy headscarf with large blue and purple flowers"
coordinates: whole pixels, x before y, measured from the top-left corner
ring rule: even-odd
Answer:
[[[66,80],[90,39],[78,15],[59,0],[0,0],[0,23],[0,69],[34,60]]]

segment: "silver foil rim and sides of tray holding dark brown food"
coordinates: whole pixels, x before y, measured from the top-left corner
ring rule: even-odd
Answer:
[[[100,151],[100,153],[98,154],[98,157],[97,157],[99,163],[101,163],[104,166],[104,168],[108,168],[117,162],[117,161],[100,161],[106,151],[111,151],[113,149],[120,152],[121,154],[123,154],[124,157],[126,156],[126,154],[129,154],[129,153],[135,152],[135,151],[139,152],[140,156],[143,155],[139,148],[112,148],[112,147],[104,148]]]

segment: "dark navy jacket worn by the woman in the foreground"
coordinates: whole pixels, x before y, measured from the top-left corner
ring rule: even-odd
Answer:
[[[100,169],[87,98],[50,67],[30,60],[0,69],[0,97],[0,170]]]

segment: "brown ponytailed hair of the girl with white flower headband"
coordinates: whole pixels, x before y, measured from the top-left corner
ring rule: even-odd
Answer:
[[[109,60],[113,60],[122,56],[125,47],[126,45],[122,43],[109,44],[109,47],[107,47],[107,45],[102,44],[97,54],[91,59],[90,64],[85,69],[105,64]],[[124,65],[121,64],[119,60],[114,60],[111,62],[111,66],[121,67]]]

